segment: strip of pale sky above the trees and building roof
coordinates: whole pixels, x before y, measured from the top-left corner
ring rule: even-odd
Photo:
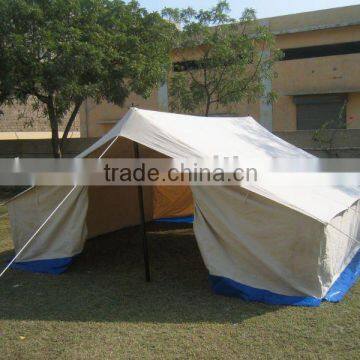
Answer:
[[[168,7],[207,9],[217,0],[138,0],[148,10],[161,10]],[[295,14],[305,11],[329,9],[334,7],[359,5],[360,0],[228,0],[232,16],[239,18],[244,8],[256,10],[258,18]]]

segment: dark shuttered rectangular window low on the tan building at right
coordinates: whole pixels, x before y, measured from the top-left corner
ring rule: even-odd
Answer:
[[[298,130],[346,129],[345,94],[294,96]]]

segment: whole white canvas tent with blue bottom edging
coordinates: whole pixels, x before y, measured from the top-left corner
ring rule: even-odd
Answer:
[[[131,156],[132,142],[154,157],[312,157],[251,117],[135,108],[80,157]],[[144,191],[147,220],[190,215],[194,203],[195,236],[216,293],[317,306],[341,300],[359,276],[359,188],[246,183],[194,186],[192,195],[186,187]],[[15,250],[38,232],[15,267],[64,271],[87,238],[139,224],[137,197],[136,187],[123,186],[35,187],[16,197],[8,204]]]

